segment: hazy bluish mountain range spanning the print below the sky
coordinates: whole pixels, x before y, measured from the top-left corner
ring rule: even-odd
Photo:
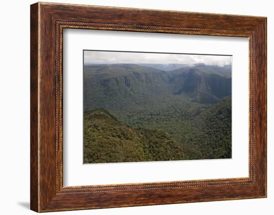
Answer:
[[[109,105],[141,104],[148,99],[178,95],[189,97],[197,103],[216,103],[231,95],[231,66],[198,64],[164,71],[148,65],[151,64],[85,66],[85,110]],[[156,65],[154,67],[165,64]]]

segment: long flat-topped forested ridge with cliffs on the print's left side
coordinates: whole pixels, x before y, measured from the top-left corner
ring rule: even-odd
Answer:
[[[85,110],[138,105],[170,93],[167,75],[135,64],[84,67]]]

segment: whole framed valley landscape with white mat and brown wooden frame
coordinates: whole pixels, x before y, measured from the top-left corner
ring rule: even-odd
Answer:
[[[31,5],[36,212],[267,197],[267,18]]]

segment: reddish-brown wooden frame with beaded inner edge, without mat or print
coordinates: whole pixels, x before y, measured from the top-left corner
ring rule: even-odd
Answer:
[[[59,3],[30,10],[30,208],[69,211],[267,197],[267,18]],[[63,187],[64,28],[249,38],[249,177]]]

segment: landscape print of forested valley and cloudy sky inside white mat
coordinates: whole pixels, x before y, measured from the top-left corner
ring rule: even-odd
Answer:
[[[232,158],[232,56],[83,51],[84,164]]]

